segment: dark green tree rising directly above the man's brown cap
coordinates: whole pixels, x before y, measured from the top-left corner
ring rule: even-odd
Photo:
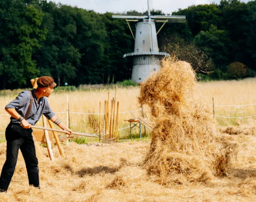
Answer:
[[[74,16],[77,12],[70,6],[46,1],[41,1],[41,7],[45,12],[42,26],[48,29],[48,35],[34,57],[41,75],[51,75],[58,85],[63,85],[75,79],[80,65],[81,54],[75,47],[77,27]]]

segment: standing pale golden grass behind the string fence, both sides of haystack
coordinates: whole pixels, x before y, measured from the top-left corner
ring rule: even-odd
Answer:
[[[10,121],[10,116],[5,112],[5,106],[12,101],[21,90],[17,89],[14,92],[7,93],[0,97],[0,132],[5,132],[5,128]],[[69,96],[69,108],[70,112],[79,113],[99,113],[99,102],[101,101],[101,113],[104,113],[104,101],[108,99],[108,91],[110,92],[110,99],[115,95],[114,86],[109,89],[90,88],[90,90],[82,91],[58,91],[54,92],[49,98],[51,108],[54,112],[63,112],[57,114],[58,117],[67,123],[67,96]],[[249,78],[244,80],[232,80],[232,81],[212,81],[212,82],[198,82],[197,93],[204,101],[205,105],[209,105],[210,109],[213,108],[213,97],[215,103],[215,115],[222,116],[249,116],[256,114],[256,106],[238,106],[238,107],[218,107],[217,105],[243,105],[256,103],[256,78]],[[119,112],[127,112],[129,110],[138,110],[140,106],[138,104],[137,96],[139,94],[138,86],[128,86],[118,88],[117,100],[119,101]],[[145,107],[146,108],[146,107]],[[147,108],[146,108],[147,109]],[[141,115],[141,111],[136,112]],[[5,115],[2,115],[5,114]],[[101,128],[103,128],[103,115],[101,121]],[[99,119],[99,115],[94,115],[96,120]],[[121,113],[119,115],[119,126],[123,128],[129,126],[129,123],[124,121],[133,118],[130,113]],[[246,124],[249,119],[225,119],[217,118],[217,121],[221,125],[230,124]],[[41,125],[39,121],[38,125]],[[86,114],[70,113],[70,128],[76,132],[86,133],[98,133],[97,129],[90,127],[89,118]],[[101,129],[102,130],[102,129]],[[102,131],[101,131],[102,132]],[[134,134],[138,133],[133,131]],[[143,132],[142,132],[143,134]],[[119,131],[119,135],[122,137],[130,136],[130,129],[124,129]],[[4,135],[0,134],[0,139]]]

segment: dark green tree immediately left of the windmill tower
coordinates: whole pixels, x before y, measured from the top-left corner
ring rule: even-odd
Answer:
[[[132,59],[123,55],[133,52],[134,40],[123,19],[113,19],[111,13],[101,16],[106,26],[107,38],[104,44],[104,59],[101,68],[102,82],[108,82],[114,77],[117,81],[129,79],[131,75]],[[131,25],[133,29],[135,26]],[[134,33],[135,30],[133,30]]]

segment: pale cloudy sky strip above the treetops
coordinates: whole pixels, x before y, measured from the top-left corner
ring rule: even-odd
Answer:
[[[48,2],[50,0],[47,0]],[[147,0],[51,0],[56,3],[76,6],[83,9],[94,10],[95,12],[126,12],[136,10],[145,12],[147,10]],[[248,0],[242,0],[248,2]],[[185,9],[191,5],[219,3],[220,0],[152,0],[152,7],[156,10],[162,10],[165,14],[171,14],[179,8]]]

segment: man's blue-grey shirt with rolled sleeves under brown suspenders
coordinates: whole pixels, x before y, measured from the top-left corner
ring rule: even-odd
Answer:
[[[34,101],[33,101],[33,105],[29,113],[29,116],[27,118],[27,121],[31,125],[35,125],[36,122],[38,122],[38,120],[40,119],[42,114],[45,115],[48,119],[51,119],[55,114],[51,110],[46,97],[40,98],[39,102],[37,102],[37,98],[34,93],[34,90],[32,90],[32,96],[34,98]],[[13,101],[7,104],[7,106],[5,106],[5,109],[14,108],[16,109],[17,113],[19,113],[19,115],[24,117],[29,108],[29,104],[30,104],[30,92],[24,91],[24,92],[21,92]],[[11,117],[11,122],[16,124],[21,123],[14,117]]]

